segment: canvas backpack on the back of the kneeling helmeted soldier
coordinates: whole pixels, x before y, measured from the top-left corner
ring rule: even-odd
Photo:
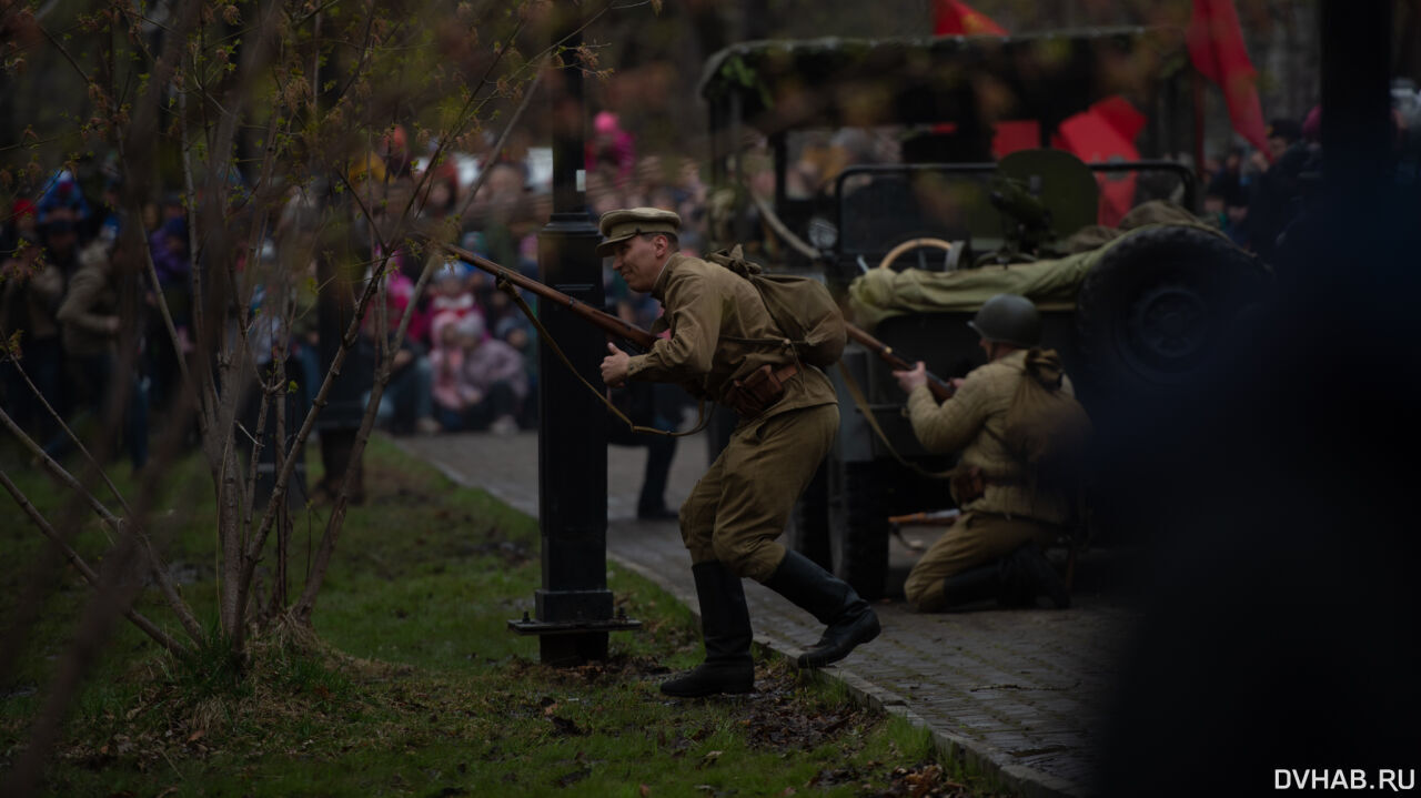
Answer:
[[[1054,349],[1029,349],[1026,373],[1003,419],[1006,447],[1037,487],[1079,487],[1087,463],[1090,416],[1061,389],[1064,376]]]

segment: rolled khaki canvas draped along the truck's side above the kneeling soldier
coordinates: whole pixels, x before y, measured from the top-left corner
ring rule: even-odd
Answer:
[[[1138,230],[1182,224],[1222,236],[1187,210],[1162,202],[1141,204],[1120,227],[1087,227],[1061,243],[1060,258],[958,271],[875,268],[848,285],[854,324],[872,329],[880,321],[914,312],[976,312],[996,294],[1029,297],[1043,311],[1076,308],[1076,291],[1110,248]],[[1080,251],[1084,250],[1084,251]]]

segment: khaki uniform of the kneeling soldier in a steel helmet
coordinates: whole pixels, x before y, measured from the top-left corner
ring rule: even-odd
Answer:
[[[1047,545],[1070,520],[1071,504],[1056,490],[1036,488],[1026,466],[1005,443],[1006,410],[1026,373],[1019,349],[968,375],[962,388],[938,405],[926,386],[908,395],[908,416],[918,440],[931,452],[958,452],[959,469],[980,469],[980,497],[962,501],[958,523],[912,567],[904,592],[924,612],[942,609],[942,581],[1010,554],[1025,542]],[[1061,388],[1074,396],[1070,379]]]

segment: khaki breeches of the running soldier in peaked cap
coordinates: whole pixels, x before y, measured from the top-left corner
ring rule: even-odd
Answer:
[[[763,582],[784,559],[774,538],[838,432],[838,406],[789,410],[736,427],[681,505],[691,562],[719,559]]]

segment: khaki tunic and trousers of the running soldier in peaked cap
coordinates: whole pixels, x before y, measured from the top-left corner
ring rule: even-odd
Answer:
[[[692,395],[723,402],[736,379],[762,365],[794,362],[759,291],[733,271],[675,253],[651,295],[665,314],[652,328],[669,329],[649,352],[628,362],[628,379],[676,382]],[[834,389],[801,364],[784,396],[755,417],[740,419],[681,507],[681,535],[692,564],[719,559],[740,576],[766,581],[784,559],[774,538],[794,501],[828,453],[838,429]]]

